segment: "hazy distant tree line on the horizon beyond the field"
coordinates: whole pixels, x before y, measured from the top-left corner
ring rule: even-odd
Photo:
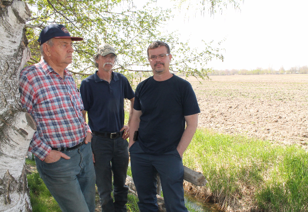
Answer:
[[[256,74],[295,74],[295,73],[307,73],[308,74],[308,66],[295,66],[291,67],[289,70],[285,70],[281,67],[278,71],[274,70],[272,67],[268,69],[256,68],[254,70],[246,70],[246,69],[226,69],[226,70],[214,70],[212,72],[207,73],[207,75],[256,75]]]

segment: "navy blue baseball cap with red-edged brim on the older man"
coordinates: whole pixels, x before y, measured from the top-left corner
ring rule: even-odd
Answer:
[[[65,26],[62,24],[51,24],[45,27],[39,34],[37,41],[39,45],[43,44],[51,38],[71,38],[73,41],[83,40],[82,37],[71,37]]]

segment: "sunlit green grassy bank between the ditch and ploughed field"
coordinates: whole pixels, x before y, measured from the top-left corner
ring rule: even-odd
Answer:
[[[308,153],[300,147],[198,130],[183,163],[208,180],[191,189],[222,208],[308,211]]]

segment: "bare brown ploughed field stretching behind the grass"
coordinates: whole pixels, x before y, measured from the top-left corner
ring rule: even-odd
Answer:
[[[299,144],[308,150],[308,74],[189,77],[199,128]]]

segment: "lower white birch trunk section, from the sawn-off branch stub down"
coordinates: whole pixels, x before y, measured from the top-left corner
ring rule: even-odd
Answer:
[[[31,211],[25,170],[25,155],[35,132],[32,117],[25,112],[16,115],[4,127],[6,139],[0,143],[0,211]]]

